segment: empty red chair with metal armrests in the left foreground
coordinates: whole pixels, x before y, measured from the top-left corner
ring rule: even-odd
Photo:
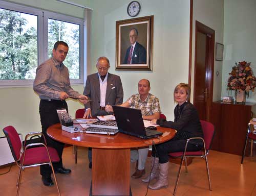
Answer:
[[[31,132],[26,135],[23,147],[22,141],[20,141],[18,133],[14,127],[5,127],[3,131],[10,146],[12,156],[19,167],[18,179],[16,184],[16,186],[18,187],[17,195],[19,193],[22,170],[24,170],[26,167],[33,167],[45,164],[51,165],[54,180],[58,189],[58,194],[60,195],[57,179],[52,166],[52,162],[59,162],[59,156],[57,151],[51,147],[47,148],[47,144],[44,143],[30,143],[26,145],[26,141],[29,136],[42,135],[41,137],[44,137],[46,143],[45,136],[41,132]],[[33,146],[33,148],[29,148],[30,146]],[[18,163],[18,161],[20,162]]]

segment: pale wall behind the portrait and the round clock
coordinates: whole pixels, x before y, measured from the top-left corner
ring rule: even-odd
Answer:
[[[131,19],[126,8],[131,1],[91,1],[93,10],[92,69],[96,72],[96,59],[110,59],[109,72],[119,75],[124,90],[124,101],[138,92],[142,78],[151,81],[151,93],[160,100],[162,113],[174,119],[173,91],[180,82],[188,82],[189,54],[189,0],[141,0],[137,17],[154,15],[153,71],[116,71],[116,21]]]

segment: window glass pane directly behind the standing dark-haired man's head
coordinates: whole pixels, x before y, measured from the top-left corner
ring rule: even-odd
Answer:
[[[69,69],[70,79],[80,79],[79,28],[79,24],[48,19],[48,56],[52,56],[56,41],[65,41],[69,45],[69,52],[63,63]]]

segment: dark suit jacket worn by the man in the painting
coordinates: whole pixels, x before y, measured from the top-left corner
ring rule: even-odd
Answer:
[[[123,61],[123,64],[127,64],[127,60],[130,54],[131,46],[127,48],[126,55]],[[133,50],[133,56],[132,56],[132,64],[146,64],[146,50],[143,47],[143,45],[137,43],[135,44],[134,50]]]

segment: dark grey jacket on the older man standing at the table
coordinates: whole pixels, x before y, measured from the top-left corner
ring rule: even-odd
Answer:
[[[123,103],[123,87],[119,76],[109,73],[106,86],[105,104],[120,105]],[[83,94],[92,99],[88,102],[85,108],[91,108],[92,116],[97,116],[100,107],[100,84],[98,72],[87,77],[86,87]],[[105,115],[108,115],[106,112]]]

